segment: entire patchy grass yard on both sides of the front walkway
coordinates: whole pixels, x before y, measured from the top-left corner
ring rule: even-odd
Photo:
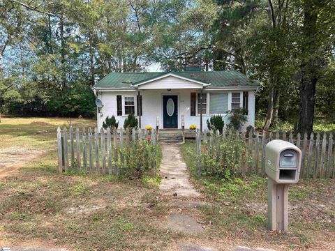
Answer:
[[[11,118],[0,123],[0,247],[46,245],[69,250],[177,250],[184,241],[227,250],[236,245],[276,250],[334,250],[334,181],[302,181],[290,190],[290,233],[267,231],[266,183],[195,178],[212,207],[171,208],[157,181],[59,175],[56,130],[68,119]],[[73,126],[95,126],[73,119]],[[182,146],[193,174],[193,143]],[[29,158],[29,156],[31,158]],[[3,164],[5,162],[5,164]],[[1,167],[2,165],[2,167]],[[178,200],[178,198],[176,198]],[[171,213],[192,215],[202,234],[166,227]]]

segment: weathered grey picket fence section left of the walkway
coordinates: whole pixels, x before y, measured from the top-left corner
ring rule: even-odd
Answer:
[[[60,127],[57,130],[58,166],[59,173],[70,169],[87,172],[89,174],[113,174],[119,175],[120,166],[126,166],[128,158],[133,157],[135,147],[142,140],[148,140],[152,145],[157,144],[156,131],[152,130],[123,130],[110,128],[92,132],[79,128],[73,131],[73,127]],[[123,149],[124,151],[120,151]],[[127,154],[124,154],[127,153]],[[146,156],[156,155],[156,151],[143,153]],[[152,158],[156,160],[155,156]],[[121,165],[120,165],[121,163]],[[148,163],[156,175],[156,161]]]

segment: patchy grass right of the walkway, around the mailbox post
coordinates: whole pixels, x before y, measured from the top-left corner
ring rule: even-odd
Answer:
[[[216,206],[202,208],[213,222],[211,236],[281,245],[281,249],[334,250],[335,180],[301,180],[289,189],[289,233],[267,231],[266,178],[248,176],[230,181],[195,176],[195,142],[182,146],[193,182]],[[326,248],[327,247],[327,248]]]

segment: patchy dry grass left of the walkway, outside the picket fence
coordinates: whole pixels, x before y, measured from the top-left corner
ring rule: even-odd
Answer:
[[[95,126],[86,119],[70,123]],[[158,195],[155,181],[59,175],[56,130],[65,124],[67,119],[2,119],[3,160],[39,155],[0,178],[0,247],[32,243],[75,250],[162,250],[182,237],[157,223],[164,207],[148,207]],[[13,149],[20,149],[15,157]]]

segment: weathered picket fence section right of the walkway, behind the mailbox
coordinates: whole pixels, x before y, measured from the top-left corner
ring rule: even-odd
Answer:
[[[220,143],[222,141],[236,138],[246,142],[247,151],[242,160],[242,165],[237,174],[265,174],[265,146],[273,139],[283,139],[295,144],[301,149],[301,172],[300,178],[335,178],[335,146],[332,133],[311,133],[310,137],[305,133],[303,137],[298,133],[288,135],[286,132],[275,134],[272,132],[219,132],[207,131],[200,133],[196,131],[195,144],[197,153],[197,173],[201,172],[201,147],[209,146],[212,149],[213,158],[220,155]]]

